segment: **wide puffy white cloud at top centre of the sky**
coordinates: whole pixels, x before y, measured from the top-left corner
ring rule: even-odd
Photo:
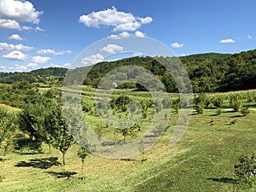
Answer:
[[[136,31],[143,24],[148,24],[152,20],[151,17],[140,18],[131,13],[118,11],[115,7],[79,17],[79,22],[84,23],[84,26],[97,28],[100,28],[100,26],[114,26],[113,32]]]

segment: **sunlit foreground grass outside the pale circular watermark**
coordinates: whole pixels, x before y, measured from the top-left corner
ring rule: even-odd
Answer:
[[[253,106],[253,105],[252,105]],[[236,124],[231,121],[236,119]],[[0,191],[255,191],[255,185],[239,183],[234,164],[242,154],[256,152],[256,110],[241,113],[224,108],[193,114],[182,140],[170,147],[177,114],[160,141],[142,156],[131,160],[108,160],[94,154],[85,160],[82,180],[78,145],[67,151],[67,165],[61,166],[61,152],[47,145],[42,153],[13,151],[0,159],[5,177]]]

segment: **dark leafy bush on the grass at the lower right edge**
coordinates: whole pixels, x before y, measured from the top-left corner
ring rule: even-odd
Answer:
[[[250,177],[256,176],[255,154],[252,154],[251,156],[241,156],[239,158],[239,164],[236,164],[234,167],[236,176],[249,182]]]

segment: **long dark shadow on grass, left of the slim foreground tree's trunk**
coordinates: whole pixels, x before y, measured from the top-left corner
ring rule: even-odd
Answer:
[[[51,166],[61,165],[61,163],[58,162],[57,160],[58,160],[57,157],[49,157],[49,158],[43,158],[43,159],[32,159],[32,160],[29,160],[29,162],[20,161],[15,166],[18,166],[18,167],[32,166],[34,168],[39,168],[39,169],[48,169]]]

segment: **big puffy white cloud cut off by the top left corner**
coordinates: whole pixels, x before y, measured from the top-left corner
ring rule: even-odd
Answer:
[[[1,0],[0,18],[16,20],[20,22],[31,22],[38,24],[39,16],[43,11],[38,11],[29,1]]]

